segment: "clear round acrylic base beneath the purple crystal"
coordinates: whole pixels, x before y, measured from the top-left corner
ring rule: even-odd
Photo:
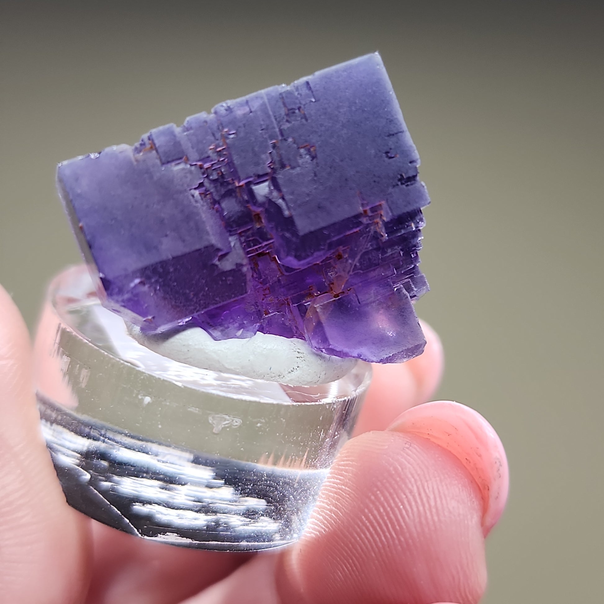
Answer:
[[[68,503],[165,543],[298,539],[371,379],[296,386],[159,355],[104,309],[85,267],[51,283],[36,338],[42,430]]]

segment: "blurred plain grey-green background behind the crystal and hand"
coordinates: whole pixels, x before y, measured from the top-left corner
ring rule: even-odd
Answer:
[[[506,445],[485,602],[602,602],[604,11],[582,2],[2,2],[0,282],[79,260],[57,162],[379,50],[422,156],[440,397]]]

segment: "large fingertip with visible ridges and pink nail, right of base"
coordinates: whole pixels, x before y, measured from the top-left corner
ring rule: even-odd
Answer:
[[[484,534],[507,482],[503,446],[483,417],[458,403],[420,405],[344,446],[300,542],[187,604],[475,604]]]

